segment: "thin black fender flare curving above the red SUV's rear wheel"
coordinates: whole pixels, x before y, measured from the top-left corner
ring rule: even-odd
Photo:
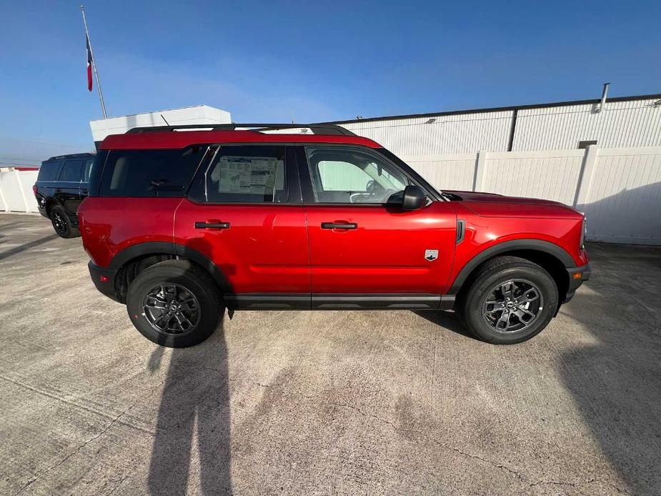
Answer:
[[[209,275],[214,279],[214,282],[216,282],[222,294],[232,292],[229,282],[227,282],[227,278],[218,266],[209,259],[209,257],[198,252],[197,249],[186,247],[183,244],[178,243],[153,241],[133,244],[116,254],[108,268],[117,271],[132,259],[156,254],[169,254],[192,260],[209,272]]]

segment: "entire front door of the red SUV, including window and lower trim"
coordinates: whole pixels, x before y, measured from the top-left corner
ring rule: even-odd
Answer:
[[[387,204],[413,181],[370,149],[315,145],[303,161],[312,307],[438,307],[454,257],[452,204]]]

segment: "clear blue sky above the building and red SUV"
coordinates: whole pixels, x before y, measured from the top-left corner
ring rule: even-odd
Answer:
[[[661,93],[656,1],[86,1],[109,116],[353,119]],[[75,1],[0,0],[0,164],[93,148]]]

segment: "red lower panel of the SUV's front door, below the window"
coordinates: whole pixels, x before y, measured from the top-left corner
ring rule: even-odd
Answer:
[[[412,212],[382,205],[310,205],[313,293],[440,294],[447,284],[457,230],[454,204],[434,202]],[[322,222],[358,224],[322,229]],[[438,259],[424,259],[437,249]]]

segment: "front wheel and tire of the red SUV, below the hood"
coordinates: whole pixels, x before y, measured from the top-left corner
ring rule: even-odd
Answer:
[[[545,269],[519,257],[497,257],[470,279],[459,314],[477,339],[515,344],[542,332],[557,306],[557,285]]]

